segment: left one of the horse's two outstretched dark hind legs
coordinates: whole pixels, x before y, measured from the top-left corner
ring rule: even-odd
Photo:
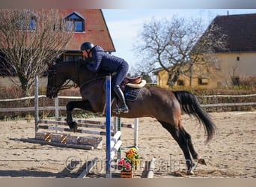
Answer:
[[[162,126],[168,130],[168,132],[171,133],[172,137],[175,141],[177,141],[177,144],[179,144],[181,150],[183,150],[183,154],[186,159],[186,169],[188,174],[192,174],[192,167],[195,165],[192,162],[190,153],[189,153],[189,143],[188,139],[186,138],[186,133],[183,132],[183,129],[180,129],[180,126],[171,126],[169,123],[165,123],[163,121],[159,121]]]

